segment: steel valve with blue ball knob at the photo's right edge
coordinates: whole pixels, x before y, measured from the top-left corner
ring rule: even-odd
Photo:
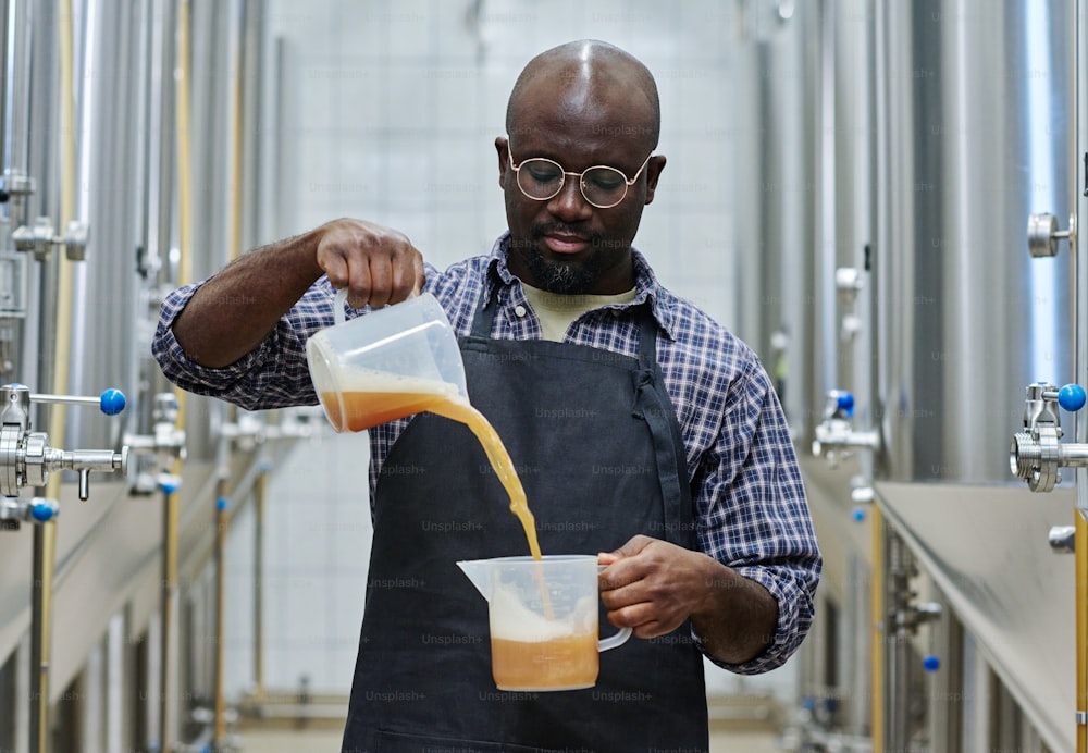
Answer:
[[[1062,478],[1060,468],[1088,467],[1088,445],[1062,444],[1059,407],[1075,412],[1084,407],[1085,391],[1078,384],[1059,390],[1036,382],[1027,386],[1024,431],[1013,434],[1009,467],[1033,492],[1050,492]]]

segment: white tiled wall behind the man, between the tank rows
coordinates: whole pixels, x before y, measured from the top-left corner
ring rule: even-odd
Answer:
[[[354,215],[405,232],[436,266],[505,229],[493,146],[528,60],[579,38],[616,44],[657,77],[668,158],[635,245],[666,285],[735,318],[730,50],[722,0],[270,0],[282,41],[274,107],[275,236]],[[272,238],[268,238],[271,240]],[[270,501],[268,683],[346,691],[369,557],[363,437],[299,447]],[[245,527],[237,536],[244,538]],[[235,555],[245,579],[245,543]],[[240,584],[240,583],[239,583]],[[249,618],[232,603],[237,641]],[[236,659],[232,687],[246,684]],[[710,684],[735,688],[724,672]]]

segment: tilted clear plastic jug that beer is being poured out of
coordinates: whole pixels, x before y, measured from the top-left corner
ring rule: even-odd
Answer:
[[[465,366],[446,312],[430,293],[336,323],[306,342],[310,379],[338,432],[362,431],[449,400],[468,400]]]

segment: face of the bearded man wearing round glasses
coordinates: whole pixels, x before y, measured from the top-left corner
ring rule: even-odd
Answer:
[[[594,165],[616,168],[628,180],[650,153],[652,141],[639,127],[640,113],[630,107],[609,101],[557,107],[556,101],[526,98],[509,141],[495,141],[511,237],[510,271],[552,293],[623,293],[634,285],[631,243],[643,207],[653,200],[665,158],[653,157],[623,200],[608,209],[586,201],[574,175],[566,175],[562,188],[551,199],[529,198],[510,168],[511,149],[516,165],[543,157],[574,173]]]

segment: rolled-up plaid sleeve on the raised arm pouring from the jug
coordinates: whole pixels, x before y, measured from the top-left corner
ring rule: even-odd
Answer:
[[[260,345],[234,363],[215,369],[190,360],[172,329],[202,284],[181,287],[162,301],[151,353],[166,379],[187,392],[218,397],[246,410],[316,405],[318,398],[306,362],[306,341],[332,324],[332,291],[327,281],[314,283]]]

